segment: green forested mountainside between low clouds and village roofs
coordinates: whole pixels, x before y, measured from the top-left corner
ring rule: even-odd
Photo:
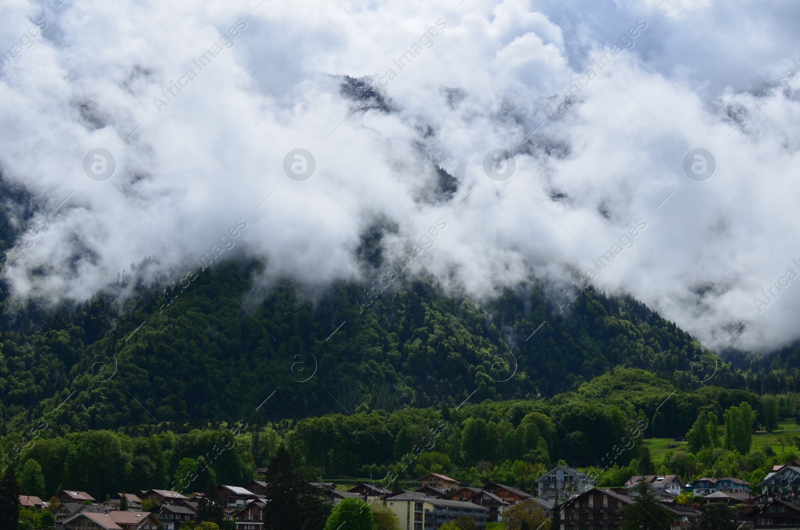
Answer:
[[[0,214],[10,240],[25,213]],[[382,259],[370,244],[366,275]],[[798,415],[797,346],[723,360],[591,288],[561,312],[535,281],[490,301],[425,276],[310,291],[228,259],[154,287],[149,261],[71,306],[0,283],[2,466],[31,494],[178,488],[199,459],[241,485],[281,445],[318,476],[396,486],[433,471],[529,491],[559,461],[604,485],[656,470],[757,484],[798,458],[796,437],[750,441]],[[682,436],[650,454],[647,440]]]

